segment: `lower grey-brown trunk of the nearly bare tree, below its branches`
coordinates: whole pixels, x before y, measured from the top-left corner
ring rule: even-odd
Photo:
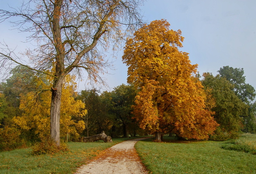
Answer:
[[[62,84],[59,87],[52,87],[52,102],[51,102],[51,137],[60,145],[60,108],[61,108],[61,91]]]

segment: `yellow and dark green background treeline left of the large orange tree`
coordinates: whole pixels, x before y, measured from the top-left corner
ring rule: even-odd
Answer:
[[[50,136],[51,78],[18,66],[0,85],[0,149],[10,150]],[[76,91],[75,76],[62,86],[61,139],[78,141],[105,131],[111,137],[145,135],[132,119],[136,90],[120,85],[112,92]]]

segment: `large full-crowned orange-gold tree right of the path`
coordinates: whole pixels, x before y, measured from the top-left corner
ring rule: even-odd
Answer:
[[[207,139],[217,127],[205,109],[206,95],[195,77],[188,53],[179,51],[181,31],[169,30],[165,20],[143,25],[126,41],[123,62],[127,81],[139,88],[134,117],[141,128],[155,133],[174,133],[187,139]]]

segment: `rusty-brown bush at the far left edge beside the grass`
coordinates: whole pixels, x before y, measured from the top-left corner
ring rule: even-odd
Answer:
[[[20,138],[21,131],[15,127],[5,126],[0,129],[0,151],[9,151],[26,147],[25,140]]]

